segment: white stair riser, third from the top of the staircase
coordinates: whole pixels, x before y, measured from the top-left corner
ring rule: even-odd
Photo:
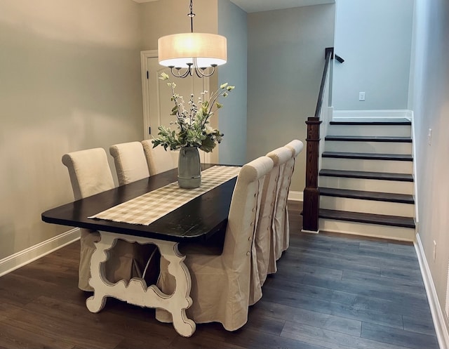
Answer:
[[[413,173],[413,162],[323,157],[321,169],[411,174]]]

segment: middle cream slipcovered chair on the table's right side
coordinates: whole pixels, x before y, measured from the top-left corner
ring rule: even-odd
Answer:
[[[292,153],[286,147],[279,147],[269,152],[267,156],[273,160],[274,166],[265,178],[255,237],[257,272],[261,285],[267,279],[267,274],[272,274],[277,270],[275,251],[278,237],[274,228],[276,199],[280,191],[285,165],[291,159]]]

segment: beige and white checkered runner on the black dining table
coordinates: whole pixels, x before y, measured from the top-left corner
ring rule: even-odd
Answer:
[[[113,220],[114,222],[149,225],[174,211],[195,197],[212,190],[214,187],[227,182],[239,174],[241,167],[213,166],[201,172],[201,186],[195,189],[183,189],[177,182],[170,183],[140,197],[111,207],[106,211],[88,218]]]

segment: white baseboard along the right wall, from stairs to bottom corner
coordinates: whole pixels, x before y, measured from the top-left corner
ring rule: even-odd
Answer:
[[[432,319],[434,320],[434,327],[436,337],[438,338],[438,344],[440,345],[440,349],[448,349],[448,327],[446,327],[445,324],[443,308],[441,308],[440,302],[438,301],[434,280],[432,279],[432,275],[430,273],[429,264],[427,263],[419,233],[416,235],[415,250],[418,261],[420,262],[422,279],[424,281],[424,287],[426,288],[427,298],[429,299],[429,306],[432,314]]]

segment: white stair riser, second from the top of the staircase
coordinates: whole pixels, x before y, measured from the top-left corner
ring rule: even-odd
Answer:
[[[327,152],[368,152],[376,154],[412,154],[412,143],[353,142],[326,140]]]

